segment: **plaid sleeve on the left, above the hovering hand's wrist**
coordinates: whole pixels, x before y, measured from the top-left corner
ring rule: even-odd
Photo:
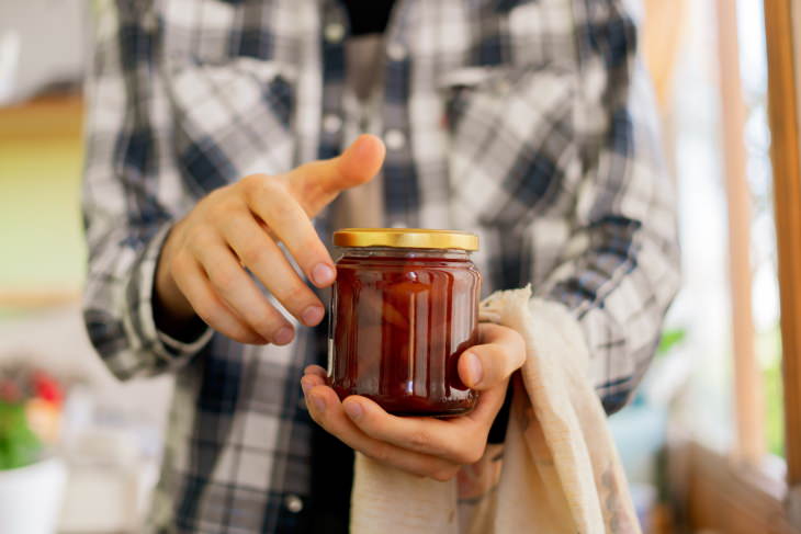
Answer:
[[[101,2],[86,83],[82,194],[89,247],[83,315],[89,338],[120,378],[184,364],[212,336],[159,332],[153,283],[174,218],[193,203],[169,161],[157,24],[137,2]],[[138,7],[135,7],[138,5]]]

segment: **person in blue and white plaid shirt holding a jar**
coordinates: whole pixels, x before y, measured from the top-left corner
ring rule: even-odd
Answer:
[[[524,359],[504,327],[460,357],[466,417],[397,418],[325,385],[345,224],[475,231],[483,294],[531,283],[560,303],[603,407],[625,405],[678,253],[622,1],[97,9],[84,319],[117,377],[176,379],[151,530],[347,532],[352,450],[444,480],[503,440]]]

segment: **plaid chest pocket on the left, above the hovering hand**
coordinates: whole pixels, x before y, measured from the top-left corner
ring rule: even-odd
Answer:
[[[291,66],[252,57],[168,68],[174,154],[199,195],[293,167],[294,79]]]

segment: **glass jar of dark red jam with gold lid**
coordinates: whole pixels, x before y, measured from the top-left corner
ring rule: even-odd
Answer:
[[[458,416],[475,391],[459,378],[477,343],[478,237],[445,230],[350,228],[331,296],[328,375],[340,399],[362,395],[398,416]]]

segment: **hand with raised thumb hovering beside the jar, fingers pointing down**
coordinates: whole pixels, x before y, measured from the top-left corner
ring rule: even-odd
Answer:
[[[201,200],[170,230],[156,270],[158,315],[170,325],[167,333],[200,317],[242,343],[291,342],[292,325],[244,268],[303,325],[318,325],[325,307],[278,243],[314,285],[331,285],[334,261],[311,218],[340,191],[370,181],[384,154],[379,138],[362,135],[337,158],[285,174],[251,174]]]

